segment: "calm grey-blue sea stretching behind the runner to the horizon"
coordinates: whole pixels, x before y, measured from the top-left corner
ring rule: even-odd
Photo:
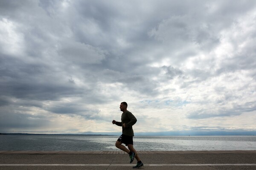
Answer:
[[[0,150],[119,150],[119,136],[0,135]],[[256,150],[256,136],[134,136],[136,150]]]

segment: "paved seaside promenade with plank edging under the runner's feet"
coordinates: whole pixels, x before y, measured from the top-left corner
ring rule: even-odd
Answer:
[[[256,150],[138,153],[145,170],[256,170]],[[0,170],[131,170],[135,164],[122,151],[0,151]]]

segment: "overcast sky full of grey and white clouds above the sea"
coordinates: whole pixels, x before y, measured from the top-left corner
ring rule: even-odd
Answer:
[[[256,131],[255,0],[1,0],[0,133]]]

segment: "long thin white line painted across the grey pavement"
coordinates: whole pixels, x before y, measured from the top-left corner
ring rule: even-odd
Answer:
[[[0,164],[3,166],[133,166],[133,164]],[[256,166],[256,164],[144,164],[144,166]]]

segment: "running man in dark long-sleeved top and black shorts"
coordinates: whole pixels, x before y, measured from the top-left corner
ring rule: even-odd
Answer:
[[[120,111],[122,111],[121,121],[122,122],[116,122],[115,120],[112,121],[113,124],[116,124],[117,126],[122,126],[122,135],[117,139],[116,141],[116,147],[125,151],[130,156],[130,163],[134,161],[134,157],[137,159],[137,164],[134,169],[143,167],[143,163],[141,162],[137,151],[133,147],[133,136],[134,131],[132,129],[132,126],[137,122],[136,117],[129,111],[127,111],[127,103],[122,102],[120,104]],[[122,145],[122,143],[125,144],[125,146],[128,146],[128,149]]]

